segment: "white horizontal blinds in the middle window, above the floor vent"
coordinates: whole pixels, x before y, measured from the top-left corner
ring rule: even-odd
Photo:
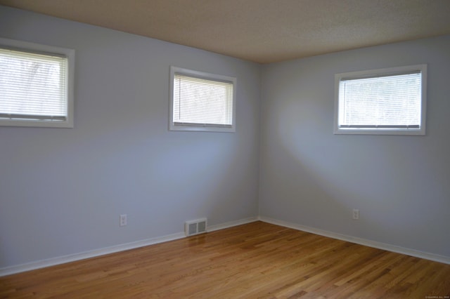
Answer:
[[[174,74],[173,123],[231,128],[233,82]]]

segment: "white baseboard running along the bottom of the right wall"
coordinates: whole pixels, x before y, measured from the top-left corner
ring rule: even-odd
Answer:
[[[405,254],[405,255],[411,255],[414,256],[416,258],[424,258],[425,260],[433,260],[435,262],[439,262],[439,263],[444,263],[444,264],[449,264],[450,265],[450,257],[448,256],[444,256],[444,255],[437,255],[434,253],[427,253],[427,252],[423,252],[423,251],[416,251],[410,248],[404,248],[404,247],[400,247],[400,246],[394,246],[394,245],[390,245],[390,244],[385,244],[385,243],[381,243],[378,241],[371,241],[371,240],[367,240],[367,239],[361,239],[361,238],[356,238],[356,237],[351,237],[351,236],[347,236],[345,234],[338,234],[336,232],[328,232],[326,230],[319,230],[317,228],[314,227],[307,227],[304,225],[297,225],[295,223],[290,223],[290,222],[285,222],[282,220],[276,220],[276,219],[272,219],[272,218],[268,218],[268,217],[264,217],[264,216],[259,216],[259,220],[263,221],[263,222],[268,222],[274,225],[281,225],[283,227],[289,227],[289,228],[293,228],[294,230],[301,230],[303,232],[310,232],[311,234],[319,234],[323,237],[329,237],[329,238],[333,238],[333,239],[339,239],[342,241],[349,241],[355,244],[360,244],[360,245],[364,245],[364,246],[369,246],[369,247],[373,247],[373,248],[378,248],[378,249],[383,249],[385,251],[392,251],[395,253],[401,253],[401,254]]]

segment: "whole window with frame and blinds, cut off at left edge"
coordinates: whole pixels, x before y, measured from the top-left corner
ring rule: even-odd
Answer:
[[[73,127],[75,51],[0,39],[0,126]]]

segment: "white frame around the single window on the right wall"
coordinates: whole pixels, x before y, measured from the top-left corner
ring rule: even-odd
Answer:
[[[409,72],[420,72],[421,74],[421,99],[420,99],[420,125],[418,128],[397,126],[392,128],[383,127],[340,127],[340,99],[339,88],[342,79],[361,79],[365,77],[383,77],[396,74],[407,74]],[[334,107],[334,133],[335,134],[361,134],[361,135],[425,135],[426,103],[427,103],[427,65],[409,65],[405,67],[390,67],[385,69],[371,69],[361,72],[346,72],[335,74],[335,107]]]

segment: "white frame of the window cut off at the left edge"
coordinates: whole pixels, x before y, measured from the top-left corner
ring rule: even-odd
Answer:
[[[27,41],[17,41],[13,39],[0,38],[1,48],[10,48],[15,51],[27,53],[37,53],[42,55],[58,55],[67,58],[68,69],[66,76],[66,105],[67,115],[65,120],[49,119],[20,119],[20,118],[0,118],[0,126],[28,126],[28,127],[53,127],[53,128],[73,128],[74,110],[74,80],[75,80],[75,50],[60,48],[56,46],[46,46],[34,44]]]

